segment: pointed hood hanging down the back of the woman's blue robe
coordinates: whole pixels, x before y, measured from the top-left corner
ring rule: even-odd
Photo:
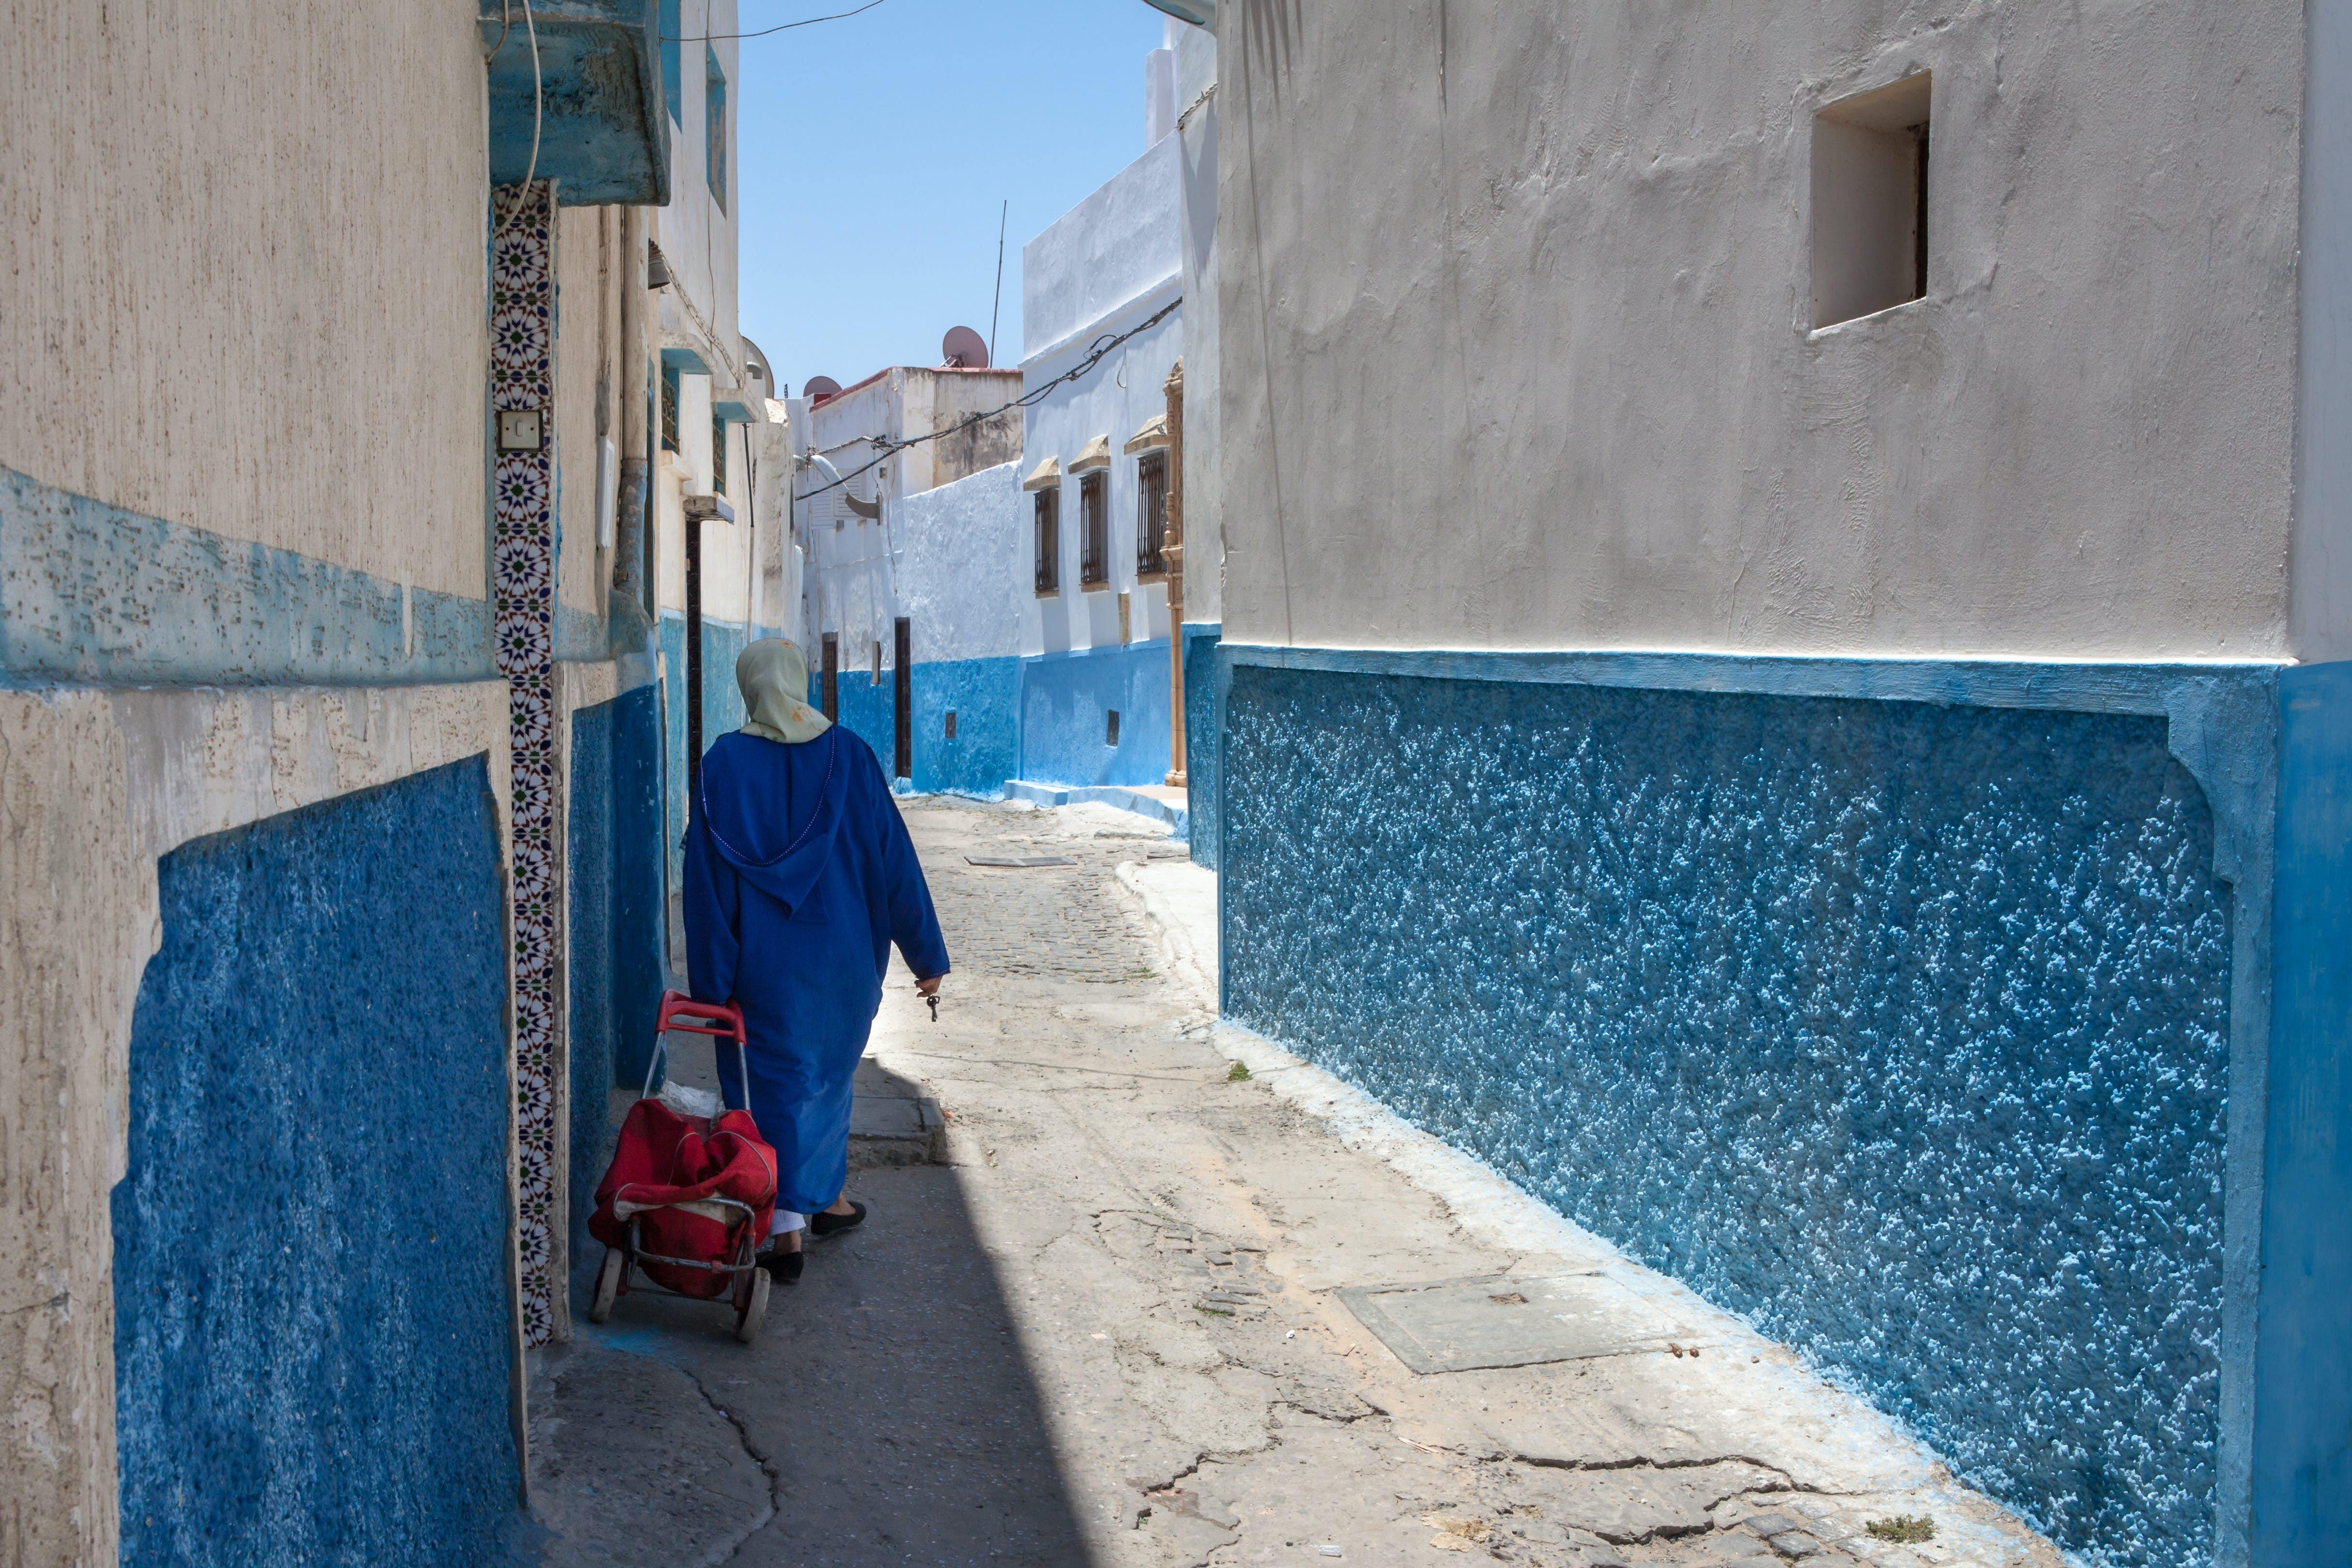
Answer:
[[[699,804],[713,846],[743,882],[795,914],[833,858],[847,797],[849,757],[830,724],[800,745],[746,729],[720,736],[703,757]]]

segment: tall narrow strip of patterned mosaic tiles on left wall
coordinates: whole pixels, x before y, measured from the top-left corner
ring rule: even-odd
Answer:
[[[520,209],[517,209],[520,202]],[[555,188],[492,193],[492,409],[541,409],[555,423]],[[508,682],[513,750],[515,1239],[522,1338],[546,1345],[555,1316],[555,449],[499,451],[492,470],[494,635]]]

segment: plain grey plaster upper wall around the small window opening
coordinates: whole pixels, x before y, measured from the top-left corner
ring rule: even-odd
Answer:
[[[2298,0],[1225,9],[1230,639],[2338,651]],[[1816,334],[1813,113],[1912,71],[1926,299]]]

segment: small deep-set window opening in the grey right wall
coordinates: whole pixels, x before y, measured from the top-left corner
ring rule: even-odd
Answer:
[[[1813,115],[1813,327],[1926,299],[1929,108],[1922,71]]]

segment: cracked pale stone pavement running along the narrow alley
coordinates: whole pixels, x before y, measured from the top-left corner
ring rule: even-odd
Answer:
[[[870,1056],[948,1164],[851,1171],[873,1218],[757,1345],[581,1312],[532,1392],[546,1561],[2058,1566],[1785,1349],[1218,1025],[1207,875],[1141,818],[906,818],[955,976],[934,1025],[894,973]],[[1555,1274],[1691,1333],[1421,1375],[1336,1295]],[[1896,1516],[1933,1540],[1865,1528]]]

